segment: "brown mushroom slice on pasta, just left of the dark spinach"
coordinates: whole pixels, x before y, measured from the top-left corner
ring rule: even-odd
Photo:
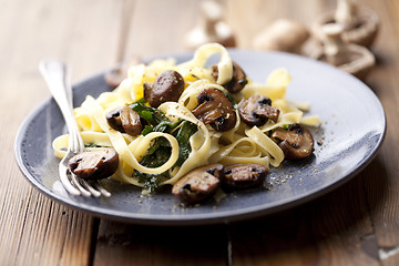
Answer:
[[[105,114],[109,125],[119,132],[136,136],[143,130],[140,115],[129,106],[116,108]]]

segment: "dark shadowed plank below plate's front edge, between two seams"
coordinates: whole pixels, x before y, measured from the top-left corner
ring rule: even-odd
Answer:
[[[151,227],[102,221],[95,265],[225,265],[227,235],[223,225]]]

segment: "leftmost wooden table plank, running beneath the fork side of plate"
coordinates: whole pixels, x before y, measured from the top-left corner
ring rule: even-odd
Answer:
[[[13,142],[24,116],[50,93],[41,58],[69,62],[80,80],[116,61],[120,1],[2,1],[0,18],[0,264],[88,265],[93,218],[33,190]],[[101,30],[100,30],[101,29]],[[99,45],[101,43],[101,45]],[[82,57],[84,54],[84,57]]]

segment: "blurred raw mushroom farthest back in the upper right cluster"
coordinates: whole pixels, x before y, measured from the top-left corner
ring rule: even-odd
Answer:
[[[356,0],[338,0],[335,11],[326,12],[316,20],[313,34],[321,40],[321,27],[328,23],[342,27],[341,38],[345,42],[369,48],[377,37],[379,18],[371,9],[359,7]]]

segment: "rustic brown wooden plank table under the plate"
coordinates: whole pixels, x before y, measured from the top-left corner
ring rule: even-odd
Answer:
[[[378,64],[367,83],[387,115],[385,143],[338,190],[280,214],[229,225],[150,227],[100,219],[33,188],[13,154],[22,120],[50,93],[43,57],[69,62],[79,81],[133,57],[183,50],[195,0],[0,0],[0,265],[399,265],[399,1],[377,11]],[[330,0],[229,0],[238,47],[277,18],[307,25]]]

